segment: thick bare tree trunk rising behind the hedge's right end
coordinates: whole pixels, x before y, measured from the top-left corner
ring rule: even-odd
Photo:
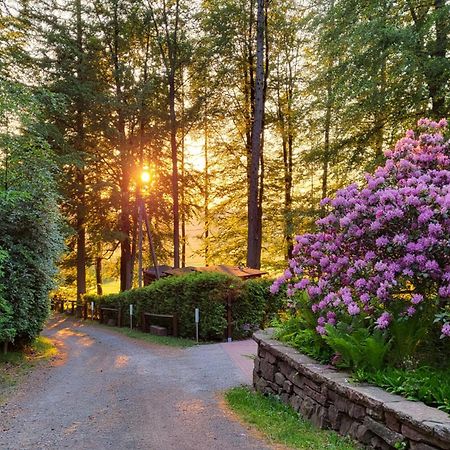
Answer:
[[[255,115],[252,127],[252,155],[248,198],[247,265],[261,267],[262,236],[259,222],[261,140],[264,121],[264,24],[265,0],[258,0],[256,32]]]

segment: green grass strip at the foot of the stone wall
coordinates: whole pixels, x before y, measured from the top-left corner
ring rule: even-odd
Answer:
[[[237,387],[228,391],[225,399],[244,422],[253,425],[271,444],[308,450],[359,448],[350,439],[334,431],[314,427],[275,397],[265,397],[250,388]]]

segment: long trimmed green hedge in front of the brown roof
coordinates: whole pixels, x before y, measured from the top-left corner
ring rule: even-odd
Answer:
[[[223,339],[226,333],[228,300],[232,304],[233,338],[251,335],[266,326],[283,307],[281,295],[269,293],[270,280],[241,281],[220,273],[194,273],[162,278],[149,286],[106,296],[86,295],[97,307],[114,306],[122,310],[122,324],[129,325],[129,305],[136,308],[136,318],[144,312],[176,313],[179,335],[195,335],[194,309],[200,309],[201,340]]]

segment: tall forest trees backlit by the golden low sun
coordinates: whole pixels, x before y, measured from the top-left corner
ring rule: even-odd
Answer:
[[[279,272],[323,198],[449,117],[449,8],[1,0],[0,230],[36,230],[0,238],[0,275],[25,234],[44,290],[61,254],[78,298],[136,286],[141,204],[158,263]]]

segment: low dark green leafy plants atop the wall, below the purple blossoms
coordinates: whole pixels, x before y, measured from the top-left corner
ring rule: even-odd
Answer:
[[[376,384],[393,394],[409,400],[420,400],[427,405],[450,413],[450,369],[432,367],[396,369],[388,367],[377,371],[357,371],[355,378]]]

